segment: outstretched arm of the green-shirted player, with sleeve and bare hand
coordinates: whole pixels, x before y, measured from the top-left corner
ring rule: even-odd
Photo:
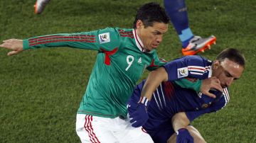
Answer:
[[[107,42],[102,42],[102,38],[105,38]],[[14,55],[22,50],[40,47],[75,47],[87,50],[112,51],[114,48],[119,47],[119,44],[118,30],[105,28],[82,33],[42,35],[25,40],[9,39],[4,40],[0,47],[12,50],[8,55]]]

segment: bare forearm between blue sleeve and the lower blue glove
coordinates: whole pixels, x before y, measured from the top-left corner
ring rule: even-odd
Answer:
[[[188,120],[186,113],[176,113],[174,117],[171,119],[171,123],[174,127],[174,131],[178,131],[181,128],[186,128],[190,121]]]

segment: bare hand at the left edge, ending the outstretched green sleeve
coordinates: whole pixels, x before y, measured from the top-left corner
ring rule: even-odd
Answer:
[[[23,41],[19,39],[4,40],[0,47],[12,50],[11,52],[8,52],[7,55],[15,55],[23,51]]]

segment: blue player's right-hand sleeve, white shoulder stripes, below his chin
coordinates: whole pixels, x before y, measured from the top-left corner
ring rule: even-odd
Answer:
[[[228,95],[228,89],[225,88],[222,96],[220,98],[216,99],[215,101],[213,101],[213,103],[212,103],[212,105],[210,105],[210,107],[199,109],[196,111],[189,111],[189,112],[186,112],[186,115],[187,115],[188,119],[190,120],[190,122],[192,122],[194,119],[198,118],[199,116],[201,116],[203,114],[217,112],[218,110],[224,108],[225,105],[227,105],[229,100],[230,100],[230,98]]]

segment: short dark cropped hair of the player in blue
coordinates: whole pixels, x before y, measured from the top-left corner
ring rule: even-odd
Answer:
[[[216,59],[220,62],[223,62],[225,58],[228,58],[230,61],[239,64],[242,67],[245,67],[245,56],[239,50],[235,48],[228,48],[220,52]]]

